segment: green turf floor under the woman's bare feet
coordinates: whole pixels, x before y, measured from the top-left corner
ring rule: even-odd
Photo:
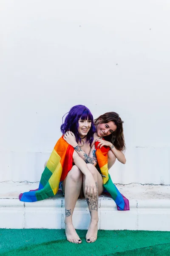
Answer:
[[[65,230],[0,229],[1,256],[170,256],[170,232],[99,230],[88,244],[87,230],[77,230],[82,244],[66,240]]]

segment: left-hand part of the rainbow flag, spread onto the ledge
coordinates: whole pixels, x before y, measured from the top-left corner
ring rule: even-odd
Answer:
[[[39,188],[19,195],[20,201],[35,202],[57,194],[59,182],[64,180],[73,166],[74,148],[61,137],[42,173]]]

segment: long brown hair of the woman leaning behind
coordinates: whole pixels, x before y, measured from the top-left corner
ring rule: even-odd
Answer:
[[[99,124],[106,124],[108,122],[114,122],[115,125],[117,126],[116,131],[113,131],[113,133],[111,133],[108,136],[105,136],[105,140],[110,141],[111,143],[113,143],[113,145],[121,151],[125,151],[126,149],[126,145],[125,145],[125,139],[124,139],[124,134],[123,134],[123,121],[120,118],[119,114],[116,112],[107,112],[101,116],[99,116],[98,118],[96,118],[94,120],[94,124],[97,127],[97,125]]]

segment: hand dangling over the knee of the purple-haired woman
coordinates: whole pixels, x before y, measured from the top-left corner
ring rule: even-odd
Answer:
[[[85,194],[91,198],[97,196],[97,188],[94,177],[91,173],[85,175]]]

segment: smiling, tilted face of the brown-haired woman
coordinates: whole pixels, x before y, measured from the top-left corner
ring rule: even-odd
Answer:
[[[105,124],[99,123],[96,127],[96,133],[99,137],[105,137],[112,134],[116,129],[117,125],[112,121]]]

